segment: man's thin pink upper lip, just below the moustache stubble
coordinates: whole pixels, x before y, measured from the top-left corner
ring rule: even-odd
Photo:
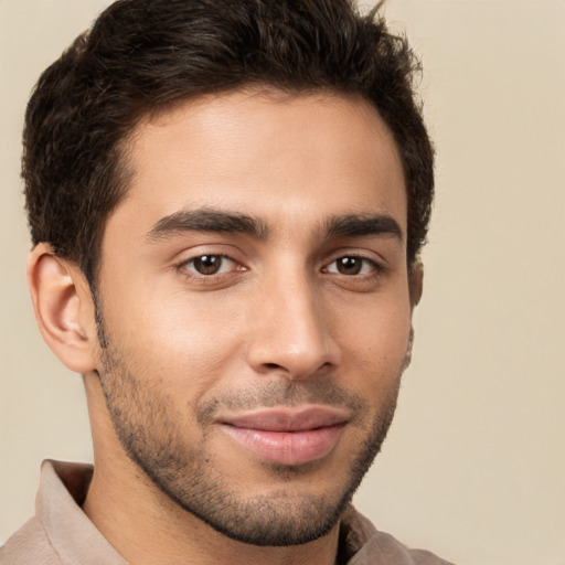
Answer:
[[[221,424],[263,431],[306,431],[345,424],[350,414],[333,406],[301,406],[258,408],[237,414],[223,415]]]

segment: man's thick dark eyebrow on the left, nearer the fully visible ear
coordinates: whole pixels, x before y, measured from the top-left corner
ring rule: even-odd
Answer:
[[[157,222],[147,234],[149,241],[160,242],[184,232],[238,233],[259,239],[267,236],[267,227],[246,214],[210,209],[181,210]]]

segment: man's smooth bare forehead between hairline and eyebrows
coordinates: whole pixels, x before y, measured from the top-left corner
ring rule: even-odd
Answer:
[[[213,207],[258,216],[275,228],[290,218],[303,225],[323,216],[387,213],[405,232],[396,143],[360,97],[201,97],[142,120],[128,156],[129,191],[107,228],[118,223],[149,230],[179,210]]]

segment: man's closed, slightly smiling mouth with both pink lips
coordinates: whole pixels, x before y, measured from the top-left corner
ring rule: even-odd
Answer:
[[[329,406],[263,408],[223,416],[218,424],[262,459],[296,466],[321,459],[338,444],[350,416]]]

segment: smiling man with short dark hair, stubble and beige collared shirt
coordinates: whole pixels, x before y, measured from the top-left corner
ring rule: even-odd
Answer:
[[[95,465],[0,563],[446,563],[350,507],[422,294],[416,68],[347,0],[120,0],[47,68],[29,284]]]

